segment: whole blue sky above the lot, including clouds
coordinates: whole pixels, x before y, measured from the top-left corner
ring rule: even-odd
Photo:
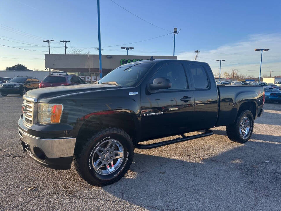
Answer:
[[[166,30],[157,28],[133,16],[110,0],[100,1],[102,46],[121,45],[165,35],[174,27],[178,59],[208,62],[214,73],[226,59],[223,72],[239,69],[243,74],[258,75],[260,52],[264,53],[263,69],[281,74],[281,2],[266,1],[125,1],[114,0],[128,11]],[[2,24],[2,25],[1,25]],[[30,35],[23,36],[19,31]],[[16,33],[15,33],[16,32]],[[33,35],[33,36],[31,36]],[[34,37],[36,36],[36,37]],[[37,37],[38,36],[38,37]],[[44,69],[47,47],[44,39],[54,39],[51,53],[64,53],[60,40],[70,40],[69,47],[97,47],[97,1],[0,1],[0,44],[25,48],[28,51],[0,46],[0,70],[16,63],[30,69]],[[3,40],[6,39],[6,40]],[[15,42],[7,41],[12,40]],[[131,55],[172,55],[173,35],[126,45],[134,47]],[[56,48],[55,48],[56,47]],[[102,54],[122,55],[120,46],[102,47]],[[70,49],[68,49],[70,50]],[[95,49],[85,49],[98,54]],[[9,57],[9,58],[2,58]],[[23,58],[23,59],[11,59]],[[38,58],[38,59],[37,59]],[[263,72],[265,74],[267,72]]]

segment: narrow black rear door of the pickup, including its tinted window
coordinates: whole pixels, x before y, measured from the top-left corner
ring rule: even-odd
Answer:
[[[195,98],[194,130],[214,127],[218,115],[218,93],[215,78],[206,63],[189,64]]]

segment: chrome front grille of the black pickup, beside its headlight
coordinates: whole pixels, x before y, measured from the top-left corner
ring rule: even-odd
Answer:
[[[23,96],[23,106],[24,106],[24,110],[23,110],[23,123],[26,126],[31,126],[33,124],[36,123],[37,120],[37,115],[36,112],[37,111],[37,99],[36,98],[30,98],[27,96]]]

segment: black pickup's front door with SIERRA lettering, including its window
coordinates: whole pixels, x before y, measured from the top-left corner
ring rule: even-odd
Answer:
[[[150,79],[168,78],[171,88],[143,91],[141,95],[141,125],[143,139],[187,132],[194,115],[194,96],[189,89],[184,66],[180,62],[161,66]]]

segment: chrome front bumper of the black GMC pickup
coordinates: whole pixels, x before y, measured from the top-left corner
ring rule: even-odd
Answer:
[[[18,128],[20,139],[29,145],[30,152],[35,155],[34,147],[39,147],[47,158],[71,157],[74,153],[76,138],[39,138],[27,134]]]

